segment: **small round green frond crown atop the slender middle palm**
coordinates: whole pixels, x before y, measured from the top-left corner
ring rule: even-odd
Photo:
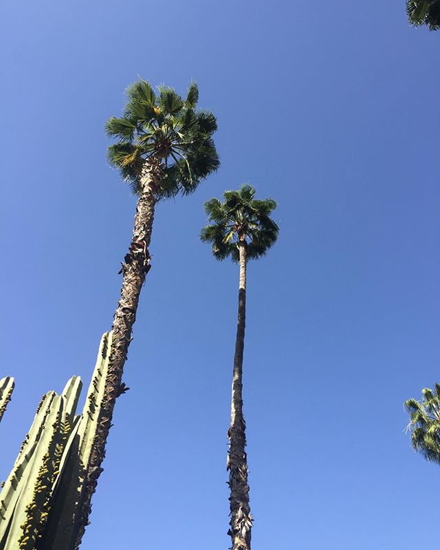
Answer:
[[[254,199],[255,189],[243,184],[239,190],[225,191],[224,200],[210,199],[205,203],[209,225],[201,230],[200,238],[212,245],[217,260],[228,256],[239,261],[239,244],[246,249],[247,259],[265,256],[278,237],[278,225],[270,219],[276,208],[273,199]]]

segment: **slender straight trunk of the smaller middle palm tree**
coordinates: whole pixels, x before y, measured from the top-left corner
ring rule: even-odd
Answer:
[[[236,327],[234,371],[232,377],[231,425],[228,430],[228,470],[230,487],[230,529],[232,550],[250,550],[252,515],[249,506],[248,459],[245,452],[246,435],[243,418],[243,348],[246,316],[246,243],[239,241],[240,284],[239,315]]]

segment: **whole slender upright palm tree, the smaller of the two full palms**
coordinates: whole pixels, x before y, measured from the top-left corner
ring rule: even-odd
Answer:
[[[224,201],[210,199],[205,203],[208,221],[201,230],[201,240],[212,245],[217,260],[228,256],[238,262],[239,314],[236,329],[234,369],[232,375],[231,423],[228,430],[228,463],[230,487],[230,529],[232,550],[250,550],[252,515],[249,506],[248,459],[245,452],[242,373],[245,343],[246,265],[248,260],[264,256],[275,243],[278,225],[270,214],[276,208],[272,199],[254,199],[255,190],[243,185],[238,191],[226,191]]]

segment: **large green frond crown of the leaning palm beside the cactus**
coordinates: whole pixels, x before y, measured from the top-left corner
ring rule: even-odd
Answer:
[[[107,159],[134,193],[140,192],[142,166],[155,159],[162,165],[157,198],[188,195],[219,168],[212,140],[217,120],[210,111],[196,109],[196,83],[190,84],[185,99],[164,85],[157,91],[142,79],[128,87],[122,117],[111,117],[105,126],[109,137],[118,138]]]

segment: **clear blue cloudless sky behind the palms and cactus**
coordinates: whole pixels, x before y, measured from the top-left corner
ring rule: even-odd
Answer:
[[[4,0],[0,20],[0,375],[17,381],[0,478],[111,325],[135,199],[104,123],[138,75],[194,78],[222,166],[157,208],[83,550],[230,544],[238,273],[198,234],[203,201],[243,181],[281,227],[248,278],[253,549],[431,544],[440,469],[402,402],[440,380],[440,32],[411,29],[404,0]]]

